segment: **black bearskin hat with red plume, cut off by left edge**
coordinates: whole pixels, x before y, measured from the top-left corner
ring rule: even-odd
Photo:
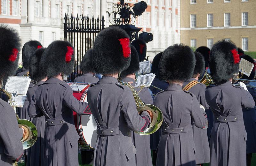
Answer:
[[[20,36],[13,28],[0,25],[0,79],[6,80],[18,69]]]

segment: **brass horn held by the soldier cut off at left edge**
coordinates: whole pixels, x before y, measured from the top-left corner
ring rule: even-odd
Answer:
[[[28,138],[26,140],[23,140],[23,139],[20,140],[22,142],[23,149],[26,150],[26,149],[32,147],[32,145],[34,145],[34,143],[36,142],[36,139],[37,139],[36,126],[35,126],[35,124],[33,124],[32,122],[30,122],[27,119],[20,119],[19,116],[17,115],[16,111],[15,111],[16,106],[15,106],[14,102],[12,101],[12,94],[10,94],[6,90],[4,90],[4,88],[2,88],[1,91],[5,95],[7,95],[8,98],[9,98],[8,102],[12,106],[12,108],[14,109],[14,112],[15,112],[17,120],[18,120],[19,127],[25,126],[28,129],[28,132],[29,132]]]

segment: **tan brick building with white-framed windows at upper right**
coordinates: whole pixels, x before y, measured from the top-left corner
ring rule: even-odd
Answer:
[[[245,51],[256,51],[255,0],[182,0],[181,42],[191,47],[231,40]]]

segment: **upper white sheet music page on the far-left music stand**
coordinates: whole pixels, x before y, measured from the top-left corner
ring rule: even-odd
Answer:
[[[9,93],[26,95],[31,79],[29,77],[11,76],[8,78],[5,90]]]

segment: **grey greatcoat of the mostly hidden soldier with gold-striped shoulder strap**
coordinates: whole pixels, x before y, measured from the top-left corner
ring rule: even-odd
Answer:
[[[183,87],[188,85],[191,81],[196,79],[191,78],[183,83]],[[205,109],[209,109],[209,105],[205,100],[205,88],[206,86],[202,83],[198,83],[191,87],[188,92],[195,94],[198,102],[204,106]],[[207,130],[200,129],[195,126],[195,122],[191,121],[193,129],[193,139],[196,146],[196,164],[208,163],[210,162],[210,147],[207,136]]]

